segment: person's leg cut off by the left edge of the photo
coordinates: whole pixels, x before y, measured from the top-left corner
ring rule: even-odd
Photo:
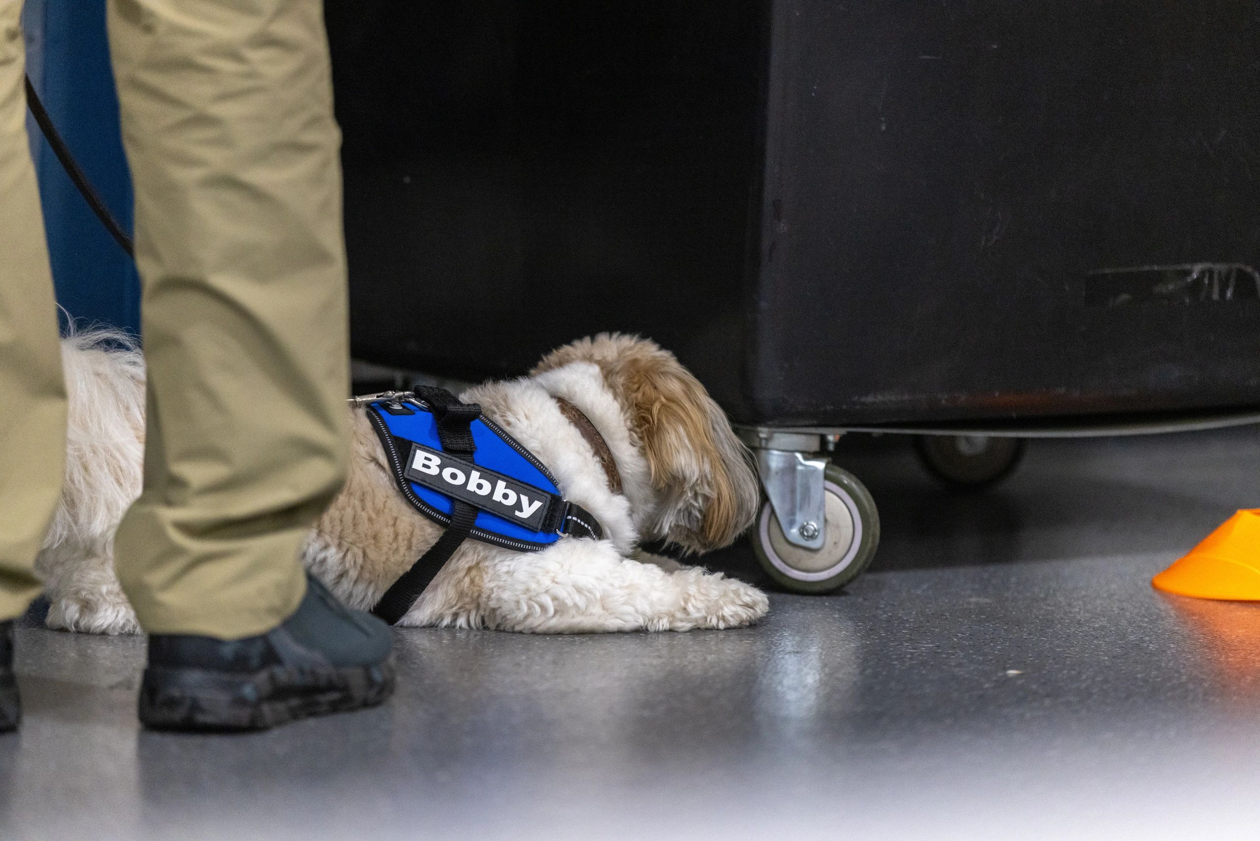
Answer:
[[[66,386],[35,168],[26,145],[21,0],[0,0],[0,730],[16,725],[11,627],[39,594],[35,554],[57,511]]]

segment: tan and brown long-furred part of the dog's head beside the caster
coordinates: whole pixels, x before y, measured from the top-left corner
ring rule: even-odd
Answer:
[[[654,535],[704,552],[748,527],[760,499],[748,451],[722,409],[674,354],[631,335],[600,334],[548,354],[536,373],[593,362],[621,403],[651,472]]]

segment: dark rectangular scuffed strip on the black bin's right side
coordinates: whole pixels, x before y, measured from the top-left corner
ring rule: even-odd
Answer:
[[[1109,308],[1260,300],[1260,272],[1241,262],[1095,269],[1089,277],[1086,299]]]

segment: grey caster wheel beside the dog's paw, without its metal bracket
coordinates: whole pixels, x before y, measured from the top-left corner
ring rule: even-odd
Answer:
[[[789,543],[769,502],[752,533],[752,551],[775,583],[790,593],[832,593],[862,575],[879,546],[879,512],[857,477],[834,464],[823,479],[827,542],[819,550]]]

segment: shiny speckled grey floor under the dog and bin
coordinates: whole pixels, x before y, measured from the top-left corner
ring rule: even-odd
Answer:
[[[747,630],[397,632],[391,705],[268,734],[141,733],[141,639],[24,629],[0,838],[1260,832],[1260,606],[1148,584],[1260,507],[1255,430],[1034,441],[978,497],[905,441],[838,460],[885,533],[845,595]]]

